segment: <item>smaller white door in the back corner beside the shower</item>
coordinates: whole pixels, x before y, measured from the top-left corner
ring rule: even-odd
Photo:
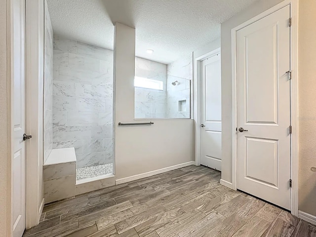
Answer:
[[[201,158],[200,164],[221,170],[222,105],[221,54],[201,62]]]

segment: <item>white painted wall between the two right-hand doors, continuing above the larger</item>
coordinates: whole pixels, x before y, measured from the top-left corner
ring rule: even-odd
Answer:
[[[221,24],[222,57],[222,179],[232,182],[232,37],[241,23],[275,6],[282,0],[260,0]]]

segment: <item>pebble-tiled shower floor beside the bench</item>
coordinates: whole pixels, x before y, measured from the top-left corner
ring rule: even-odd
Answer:
[[[76,169],[76,180],[93,178],[100,175],[112,174],[113,164],[101,164],[96,166]]]

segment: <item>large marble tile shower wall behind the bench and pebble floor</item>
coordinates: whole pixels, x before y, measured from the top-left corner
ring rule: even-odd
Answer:
[[[54,37],[53,148],[74,147],[77,168],[112,163],[113,51]]]

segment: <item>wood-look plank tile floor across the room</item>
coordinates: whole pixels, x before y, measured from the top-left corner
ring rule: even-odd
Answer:
[[[46,205],[23,237],[316,237],[316,227],[188,166]]]

